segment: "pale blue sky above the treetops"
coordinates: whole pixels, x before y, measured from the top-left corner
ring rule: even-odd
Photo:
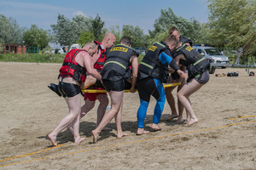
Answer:
[[[0,0],[0,14],[14,18],[19,26],[30,28],[35,24],[44,30],[56,23],[58,14],[70,20],[77,14],[93,18],[99,14],[107,28],[140,26],[148,34],[148,30],[154,30],[160,9],[168,7],[177,16],[207,22],[207,0]]]

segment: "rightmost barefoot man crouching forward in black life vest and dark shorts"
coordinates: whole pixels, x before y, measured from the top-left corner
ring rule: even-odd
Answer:
[[[188,69],[187,82],[177,92],[177,99],[181,102],[187,112],[187,121],[185,126],[191,126],[198,122],[198,119],[192,109],[189,96],[194,94],[209,81],[210,63],[191,46],[178,42],[177,38],[174,36],[169,37],[171,42],[176,44],[172,46],[171,51],[177,65],[179,67],[184,65]]]

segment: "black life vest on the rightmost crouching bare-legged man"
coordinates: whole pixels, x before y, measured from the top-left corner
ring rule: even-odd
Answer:
[[[186,60],[180,59],[179,63],[187,66],[189,72],[189,80],[204,71],[209,70],[210,63],[208,60],[201,56],[195,48],[187,44],[183,44],[181,47],[177,48],[173,53],[173,58],[177,55],[183,54]]]

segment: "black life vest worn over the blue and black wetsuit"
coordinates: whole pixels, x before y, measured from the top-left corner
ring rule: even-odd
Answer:
[[[165,49],[170,50],[165,42],[155,42],[150,48],[148,48],[147,54],[145,54],[138,67],[139,80],[146,77],[154,77],[159,79],[161,82],[168,82],[168,64],[163,65],[159,59],[159,55]]]

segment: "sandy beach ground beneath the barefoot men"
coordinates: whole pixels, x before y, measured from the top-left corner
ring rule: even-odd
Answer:
[[[199,119],[191,127],[164,121],[171,112],[166,104],[162,131],[137,136],[138,94],[125,94],[122,127],[129,136],[117,139],[112,121],[113,130],[92,144],[95,107],[80,123],[84,142],[74,144],[65,129],[61,145],[52,147],[47,134],[67,114],[65,100],[47,88],[60,66],[0,62],[0,169],[256,169],[256,77],[245,69],[218,69],[239,77],[211,75],[191,96]],[[152,99],[146,129],[154,105]]]

